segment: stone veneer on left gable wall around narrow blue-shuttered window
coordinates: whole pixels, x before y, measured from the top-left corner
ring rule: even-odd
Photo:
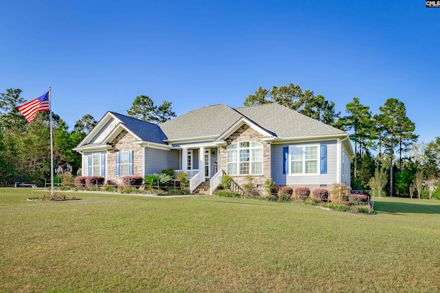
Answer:
[[[142,147],[140,145],[133,144],[135,138],[122,130],[122,132],[112,142],[112,148],[107,152],[107,180],[113,180],[115,183],[120,183],[120,177],[116,177],[116,155],[114,150],[120,152],[133,151],[133,175],[143,175],[142,164]]]

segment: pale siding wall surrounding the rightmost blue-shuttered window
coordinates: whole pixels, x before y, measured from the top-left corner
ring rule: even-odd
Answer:
[[[289,145],[327,145],[327,174],[318,175],[289,175],[283,174],[283,148]],[[312,143],[286,143],[272,145],[271,165],[272,178],[276,185],[332,185],[336,183],[336,140],[332,141],[314,141]],[[318,163],[319,167],[319,163]]]

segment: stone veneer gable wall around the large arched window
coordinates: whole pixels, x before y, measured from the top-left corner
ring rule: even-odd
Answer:
[[[256,176],[252,175],[254,177],[254,184],[255,185],[263,185],[265,180],[270,179],[270,143],[265,143],[261,140],[262,135],[257,132],[256,130],[250,128],[247,124],[244,124],[239,129],[237,129],[234,133],[228,137],[228,139],[225,139],[225,141],[228,143],[228,145],[231,145],[232,143],[237,143],[239,141],[254,141],[257,143],[261,143],[263,145],[263,176]],[[227,160],[227,152],[226,148],[228,145],[224,145],[220,149],[220,156],[221,156],[221,169],[223,169],[224,172],[227,172],[228,164],[226,163]],[[247,175],[240,175],[240,176],[232,176],[232,179],[237,183],[238,185],[243,185],[247,183],[246,180]]]

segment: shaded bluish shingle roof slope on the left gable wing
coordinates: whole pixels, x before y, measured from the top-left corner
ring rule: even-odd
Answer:
[[[137,137],[142,139],[142,141],[166,144],[164,141],[167,137],[157,124],[137,120],[114,112],[111,112],[111,114],[120,119],[124,126],[126,126],[126,128],[133,132]]]

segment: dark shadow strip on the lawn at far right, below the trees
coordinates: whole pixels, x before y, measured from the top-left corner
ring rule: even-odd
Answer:
[[[375,202],[376,213],[437,213],[440,214],[440,205],[419,204],[408,202]]]

